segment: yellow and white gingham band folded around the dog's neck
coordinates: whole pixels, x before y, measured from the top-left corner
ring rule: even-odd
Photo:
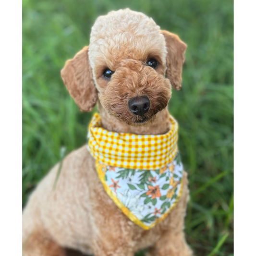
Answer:
[[[109,132],[96,113],[89,125],[88,148],[100,162],[127,169],[157,170],[171,163],[178,147],[178,123],[170,115],[166,134],[137,135]]]

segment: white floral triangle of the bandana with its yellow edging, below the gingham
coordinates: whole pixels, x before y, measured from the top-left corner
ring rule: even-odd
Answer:
[[[98,163],[105,190],[123,213],[148,230],[165,219],[182,194],[183,165],[179,153],[158,170],[126,169]]]

